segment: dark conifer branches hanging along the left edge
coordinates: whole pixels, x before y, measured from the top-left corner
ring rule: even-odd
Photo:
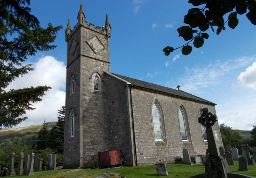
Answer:
[[[26,110],[35,109],[30,103],[41,101],[40,97],[51,88],[4,90],[15,78],[34,70],[31,64],[23,64],[27,56],[56,47],[50,44],[62,28],[50,23],[47,28],[42,28],[26,5],[30,5],[30,0],[0,0],[0,128],[9,128],[26,120],[27,117],[22,117]],[[13,34],[17,37],[12,38]]]

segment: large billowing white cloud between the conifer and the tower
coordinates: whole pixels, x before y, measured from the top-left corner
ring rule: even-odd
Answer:
[[[34,63],[33,68],[34,71],[17,78],[6,89],[36,87],[38,85],[50,86],[52,89],[45,93],[46,95],[42,97],[41,102],[32,103],[32,107],[36,109],[27,111],[24,116],[27,116],[28,119],[17,127],[42,123],[44,118],[47,121],[57,120],[58,110],[65,105],[66,94],[65,91],[61,90],[65,90],[66,86],[66,66],[64,63],[57,61],[52,56],[45,56]]]

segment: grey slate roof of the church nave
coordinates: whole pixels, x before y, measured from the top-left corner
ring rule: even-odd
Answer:
[[[154,90],[154,91],[158,91],[158,92],[167,93],[167,94],[170,94],[172,96],[176,96],[178,98],[188,98],[190,100],[196,100],[196,101],[216,105],[215,103],[207,101],[203,98],[199,98],[195,95],[189,94],[189,93],[184,92],[182,90],[176,90],[176,89],[173,89],[173,88],[164,87],[164,86],[161,86],[161,85],[156,85],[156,84],[153,84],[153,83],[133,79],[133,78],[130,78],[130,77],[125,77],[125,76],[114,74],[114,73],[111,73],[111,74],[113,74],[113,75],[115,75],[115,76],[117,76],[117,77],[119,77],[119,78],[121,78],[121,79],[123,79],[127,82],[130,82],[131,85],[139,87],[139,88],[145,88],[145,89],[149,89],[149,90]]]

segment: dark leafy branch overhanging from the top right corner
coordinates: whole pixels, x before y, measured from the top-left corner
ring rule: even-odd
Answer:
[[[184,51],[184,46],[188,45],[191,41],[194,40],[194,47],[201,47],[204,43],[203,39],[199,39],[201,32],[207,31],[209,26],[212,31],[215,32],[214,26],[217,26],[216,34],[220,34],[222,30],[225,30],[225,24],[228,21],[228,26],[234,29],[238,25],[237,14],[242,15],[246,13],[247,9],[249,12],[246,14],[246,17],[251,21],[253,25],[256,25],[256,1],[255,0],[235,0],[235,1],[227,1],[227,0],[189,0],[189,3],[193,4],[193,6],[200,6],[202,8],[192,8],[189,9],[187,15],[184,16],[183,22],[188,24],[189,26],[181,26],[177,29],[179,36],[183,37],[185,41],[190,40],[186,44],[172,48],[168,47],[168,49],[172,48],[173,50],[179,49],[182,47],[182,51]],[[224,21],[224,15],[229,14],[226,22]],[[199,28],[199,33],[195,32],[194,28]],[[194,33],[196,33],[195,36]],[[208,39],[209,35],[206,36],[201,35],[204,39]],[[199,40],[199,42],[198,42]],[[195,42],[196,41],[196,42]],[[170,55],[173,50],[168,50],[165,48],[163,52],[165,55]],[[183,53],[187,55],[189,53]]]

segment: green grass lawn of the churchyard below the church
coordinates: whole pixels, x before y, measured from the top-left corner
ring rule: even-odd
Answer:
[[[248,166],[249,171],[238,171],[238,161],[234,161],[235,165],[230,165],[230,169],[233,173],[245,174],[251,177],[256,177],[256,166]],[[61,169],[57,171],[41,171],[35,172],[34,176],[29,178],[64,178],[64,177],[84,177],[84,178],[94,178],[101,175],[103,172],[106,173],[119,173],[126,176],[126,178],[154,178],[154,177],[176,177],[185,178],[191,177],[197,174],[204,173],[205,166],[201,164],[185,165],[185,164],[174,164],[167,163],[168,176],[156,175],[156,166],[134,166],[125,167],[118,169],[105,169],[105,170],[95,170],[95,169],[83,169],[80,171],[72,171],[73,169]],[[23,176],[11,176],[11,177],[23,177]]]

